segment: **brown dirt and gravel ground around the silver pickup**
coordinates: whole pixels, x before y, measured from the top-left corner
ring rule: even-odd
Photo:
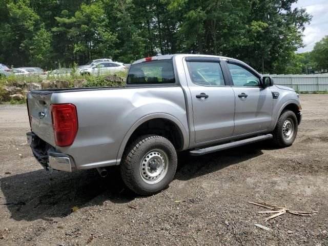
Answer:
[[[0,245],[328,245],[328,95],[301,100],[292,147],[182,156],[169,188],[149,197],[114,169],[45,171],[26,144],[26,108],[0,106]],[[248,201],[319,212],[264,222]]]

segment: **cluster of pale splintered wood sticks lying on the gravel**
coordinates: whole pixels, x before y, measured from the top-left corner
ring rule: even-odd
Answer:
[[[276,218],[280,215],[283,215],[284,213],[290,213],[290,214],[295,214],[295,215],[300,215],[300,216],[311,216],[311,214],[315,214],[318,211],[309,211],[309,212],[305,212],[305,211],[294,211],[294,210],[290,210],[288,208],[286,208],[286,206],[284,207],[278,207],[278,206],[274,206],[271,205],[269,203],[266,202],[253,202],[253,201],[249,201],[248,203],[254,204],[256,206],[262,207],[262,208],[266,208],[266,209],[270,209],[270,211],[261,211],[258,212],[260,214],[271,214],[274,213],[274,215],[266,218],[264,221],[268,221],[269,219],[273,219]]]

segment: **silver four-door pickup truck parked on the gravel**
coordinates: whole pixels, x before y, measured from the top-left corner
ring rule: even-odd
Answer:
[[[293,89],[211,55],[147,57],[131,65],[126,87],[36,90],[27,103],[27,138],[45,169],[106,176],[120,165],[141,195],[169,185],[178,151],[203,155],[265,139],[288,147],[302,116]]]

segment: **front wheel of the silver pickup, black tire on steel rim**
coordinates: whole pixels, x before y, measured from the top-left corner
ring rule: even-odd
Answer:
[[[292,129],[289,128],[289,122],[291,122]],[[298,130],[298,122],[296,115],[291,110],[284,110],[279,116],[275,130],[273,134],[274,145],[285,148],[293,144]]]

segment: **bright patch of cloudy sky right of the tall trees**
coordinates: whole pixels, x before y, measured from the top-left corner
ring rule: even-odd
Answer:
[[[298,49],[297,53],[311,51],[316,42],[328,35],[328,0],[299,0],[292,7],[305,8],[313,16],[310,25],[306,25],[303,32],[305,47]]]

